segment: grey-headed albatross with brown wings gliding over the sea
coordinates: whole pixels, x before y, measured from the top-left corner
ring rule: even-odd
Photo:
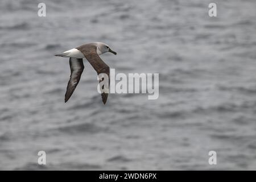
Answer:
[[[106,52],[112,52],[114,55],[117,55],[117,53],[112,51],[112,49],[110,49],[107,44],[102,42],[84,44],[80,47],[73,48],[55,55],[61,57],[69,57],[71,75],[68,81],[67,91],[65,93],[65,102],[69,100],[74,90],[76,89],[77,84],[79,84],[82,71],[84,71],[84,63],[82,62],[83,58],[89,61],[89,63],[92,65],[98,75],[100,75],[101,73],[105,73],[109,76],[109,66],[104,63],[104,61],[99,56]],[[100,82],[101,81],[102,79],[100,80]],[[103,93],[101,93],[101,98],[103,103],[106,104],[109,88],[103,87],[103,90],[104,91]]]

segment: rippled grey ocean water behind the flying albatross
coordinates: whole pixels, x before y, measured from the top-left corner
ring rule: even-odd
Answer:
[[[256,1],[0,1],[0,169],[255,170]],[[105,42],[117,73],[159,73],[159,98],[97,93],[88,61],[65,104],[67,58]],[[38,151],[47,164],[38,165]],[[208,152],[217,152],[209,165]]]

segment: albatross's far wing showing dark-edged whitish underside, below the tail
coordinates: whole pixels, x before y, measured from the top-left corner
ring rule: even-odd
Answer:
[[[69,100],[72,96],[77,84],[79,83],[82,71],[84,71],[84,63],[82,59],[69,58],[69,65],[71,70],[71,75],[68,81],[67,91],[65,93],[65,102]]]

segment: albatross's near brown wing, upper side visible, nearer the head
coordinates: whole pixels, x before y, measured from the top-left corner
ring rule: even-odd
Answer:
[[[106,65],[106,63],[104,63],[104,61],[102,61],[100,56],[98,56],[96,46],[87,44],[84,46],[77,47],[77,49],[79,49],[79,51],[81,51],[83,53],[85,58],[89,61],[89,63],[92,65],[92,67],[98,73],[98,75],[100,75],[100,73],[105,73],[109,77],[109,66]],[[101,81],[103,81],[103,79],[100,79],[100,82]],[[109,84],[110,84],[110,77],[109,77]],[[104,85],[104,86],[106,86],[106,85]],[[101,94],[101,98],[102,98],[103,103],[106,104],[106,101],[108,99],[109,88],[104,88],[104,86],[102,87],[103,93]],[[109,87],[109,85],[108,85],[108,87]]]

